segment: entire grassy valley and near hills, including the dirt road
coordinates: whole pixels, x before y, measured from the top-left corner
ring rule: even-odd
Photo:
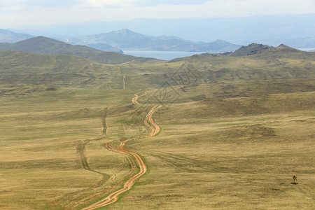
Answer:
[[[0,95],[0,209],[315,207],[315,52],[37,37],[0,50]]]

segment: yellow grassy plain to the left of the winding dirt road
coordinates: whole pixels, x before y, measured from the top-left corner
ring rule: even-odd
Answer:
[[[66,207],[81,191],[102,186],[101,174],[81,167],[78,146],[102,142],[102,108],[121,103],[123,97],[117,90],[76,89],[1,97],[1,208]],[[114,158],[119,154],[103,154],[102,144],[89,146],[94,148],[91,167],[93,158],[105,155],[99,164],[107,166],[100,172],[111,174],[109,165],[118,168],[118,175],[129,172],[127,162]]]

